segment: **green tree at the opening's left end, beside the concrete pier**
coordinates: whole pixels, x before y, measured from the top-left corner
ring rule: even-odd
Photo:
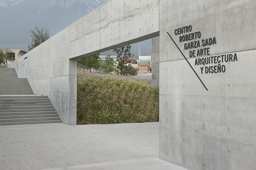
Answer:
[[[89,69],[91,72],[91,69],[97,69],[100,65],[100,54],[94,54],[92,56],[87,56],[84,58],[80,58],[77,60],[78,67],[81,67],[85,70]]]

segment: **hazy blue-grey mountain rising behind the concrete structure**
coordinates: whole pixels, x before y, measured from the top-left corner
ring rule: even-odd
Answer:
[[[51,36],[85,16],[107,0],[0,0],[0,49],[27,50],[30,29],[47,28]],[[151,40],[141,42],[141,55],[151,55]],[[138,44],[132,53],[138,56]],[[108,51],[102,55],[111,54]]]

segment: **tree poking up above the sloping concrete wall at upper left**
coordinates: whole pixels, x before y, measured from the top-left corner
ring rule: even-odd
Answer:
[[[28,51],[42,44],[50,38],[50,32],[47,29],[39,29],[36,25],[34,30],[30,30],[31,42],[28,44]]]

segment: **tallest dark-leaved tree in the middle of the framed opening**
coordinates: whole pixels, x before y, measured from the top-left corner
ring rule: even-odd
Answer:
[[[128,66],[131,64],[130,57],[133,57],[130,53],[131,46],[126,45],[117,49],[113,49],[113,52],[116,53],[116,74],[118,75],[128,75]]]

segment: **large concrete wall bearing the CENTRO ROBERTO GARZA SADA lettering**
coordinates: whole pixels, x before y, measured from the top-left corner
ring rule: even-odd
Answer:
[[[189,170],[256,168],[256,1],[161,0],[159,157]],[[210,55],[237,54],[225,72],[201,74],[176,28],[216,37]],[[199,82],[184,52],[209,91]],[[184,34],[183,34],[184,35]],[[191,42],[191,41],[188,41]],[[200,49],[201,47],[196,48]],[[204,48],[204,47],[203,47]],[[205,68],[205,67],[204,67]]]

